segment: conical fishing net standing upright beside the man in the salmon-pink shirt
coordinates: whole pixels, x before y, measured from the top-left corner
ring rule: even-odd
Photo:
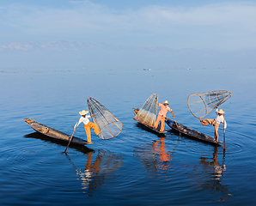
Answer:
[[[153,127],[155,124],[155,116],[157,111],[157,99],[157,94],[152,94],[149,99],[145,101],[143,107],[141,107],[141,109],[137,112],[134,119],[142,124]]]

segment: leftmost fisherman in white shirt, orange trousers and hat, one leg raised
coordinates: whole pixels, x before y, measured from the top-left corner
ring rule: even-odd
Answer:
[[[75,124],[74,126],[74,132],[76,130],[76,127],[80,124],[80,123],[83,123],[84,124],[84,130],[86,132],[86,136],[87,136],[87,142],[88,143],[92,143],[92,140],[91,140],[91,128],[94,129],[94,133],[96,135],[99,135],[100,134],[100,131],[98,129],[98,126],[97,124],[94,124],[92,122],[90,122],[88,120],[88,118],[90,118],[91,116],[88,115],[88,111],[85,111],[85,110],[82,110],[81,112],[79,112],[80,115],[82,115],[81,118],[79,118],[78,122]]]

